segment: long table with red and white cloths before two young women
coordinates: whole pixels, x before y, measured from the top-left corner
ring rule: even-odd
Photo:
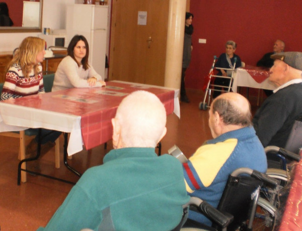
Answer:
[[[65,160],[67,154],[82,151],[83,144],[91,149],[111,140],[111,119],[121,100],[136,90],[156,94],[167,114],[180,116],[179,89],[109,81],[106,87],[70,88],[0,101],[0,132],[45,128],[70,133],[68,146],[64,146]]]

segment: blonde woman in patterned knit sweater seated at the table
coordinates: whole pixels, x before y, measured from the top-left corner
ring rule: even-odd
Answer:
[[[13,60],[9,63],[1,100],[20,98],[28,95],[44,93],[41,63],[45,54],[45,41],[38,37],[25,38]],[[37,130],[37,129],[32,129]],[[42,129],[41,154],[54,146],[60,132]],[[38,136],[26,149],[27,157],[34,156],[37,150]]]

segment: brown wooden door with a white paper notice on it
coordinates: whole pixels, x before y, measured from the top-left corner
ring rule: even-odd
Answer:
[[[138,11],[146,25],[137,25]],[[110,80],[164,85],[168,16],[169,0],[113,0]]]

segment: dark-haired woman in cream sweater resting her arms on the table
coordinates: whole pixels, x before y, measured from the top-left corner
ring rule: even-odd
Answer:
[[[88,64],[89,45],[83,35],[75,35],[55,72],[52,91],[73,87],[102,87],[106,83]]]

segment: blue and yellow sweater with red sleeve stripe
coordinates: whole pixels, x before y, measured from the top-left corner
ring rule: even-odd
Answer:
[[[238,168],[266,172],[267,161],[253,127],[224,133],[197,149],[183,164],[187,192],[217,207],[229,175]],[[200,213],[189,211],[189,218],[210,225]]]

